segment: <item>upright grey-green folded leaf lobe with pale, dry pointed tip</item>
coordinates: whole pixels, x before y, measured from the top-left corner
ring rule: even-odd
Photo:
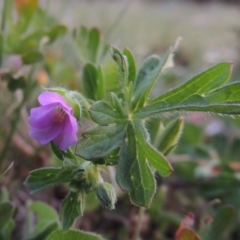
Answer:
[[[172,51],[173,49],[170,49],[162,59],[153,55],[144,61],[134,81],[133,108],[140,108],[146,104],[154,83],[173,55]]]

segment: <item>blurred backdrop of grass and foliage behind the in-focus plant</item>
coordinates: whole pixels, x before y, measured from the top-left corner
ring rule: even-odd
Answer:
[[[67,194],[64,185],[34,195],[23,186],[29,171],[59,165],[49,146],[28,136],[29,110],[38,105],[43,87],[81,91],[83,66],[92,61],[101,65],[107,90],[114,91],[117,69],[108,46],[131,49],[139,67],[147,56],[161,56],[178,37],[182,40],[175,66],[161,77],[153,94],[221,61],[233,63],[231,81],[240,79],[238,0],[1,0],[0,10],[0,175],[10,166],[0,182],[1,199],[9,199],[17,209],[9,239],[31,239],[26,226],[28,213],[34,211],[32,202],[44,201],[58,211]],[[83,27],[97,28],[106,47],[101,59],[89,60],[84,54],[83,36],[77,34]],[[185,127],[178,148],[169,156],[174,173],[164,179],[157,176],[159,188],[144,213],[142,239],[175,239],[186,215],[201,236],[212,221],[221,220],[215,224],[219,235],[202,239],[240,239],[239,118],[176,113],[162,116],[161,122],[178,116],[184,117]],[[150,132],[154,124],[148,123]],[[84,121],[81,131],[89,126]],[[139,210],[118,191],[115,211],[103,209],[89,195],[75,227],[106,239],[132,239]]]

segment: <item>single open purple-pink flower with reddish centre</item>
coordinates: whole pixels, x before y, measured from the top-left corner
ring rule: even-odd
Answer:
[[[63,151],[75,144],[78,124],[72,107],[56,92],[43,92],[38,101],[42,106],[32,108],[28,118],[30,137],[40,144],[53,141]]]

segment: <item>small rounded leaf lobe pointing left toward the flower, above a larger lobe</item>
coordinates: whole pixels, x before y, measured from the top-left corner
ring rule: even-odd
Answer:
[[[95,102],[89,112],[92,120],[102,126],[122,121],[118,112],[103,101]]]

